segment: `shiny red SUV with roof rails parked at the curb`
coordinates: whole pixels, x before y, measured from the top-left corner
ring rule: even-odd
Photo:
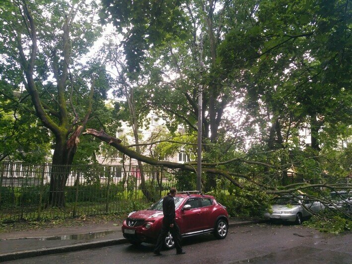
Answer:
[[[154,203],[149,209],[132,212],[122,225],[122,233],[132,244],[142,242],[155,243],[162,226],[162,200]],[[174,197],[176,222],[182,237],[213,233],[223,239],[228,231],[228,214],[226,207],[216,202],[209,195],[196,195],[186,192],[177,193]],[[169,233],[164,247],[170,249],[174,241]]]

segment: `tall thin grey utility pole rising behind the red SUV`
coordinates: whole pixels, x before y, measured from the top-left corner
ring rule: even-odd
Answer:
[[[204,3],[203,12],[205,12],[206,4]],[[203,71],[203,31],[201,28],[200,35],[200,58],[199,58],[199,68],[200,68],[200,80],[202,80]],[[202,82],[199,84],[198,90],[198,151],[197,151],[197,191],[202,191],[202,128],[203,128],[203,87]]]

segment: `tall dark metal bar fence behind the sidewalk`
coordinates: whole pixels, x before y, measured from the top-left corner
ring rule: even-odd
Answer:
[[[150,165],[140,169],[136,165],[4,162],[0,164],[0,221],[129,212],[150,205],[170,187],[195,190],[195,174],[186,181],[178,181],[180,176],[179,170]]]

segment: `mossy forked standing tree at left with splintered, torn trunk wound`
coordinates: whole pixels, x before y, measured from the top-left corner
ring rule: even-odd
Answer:
[[[48,205],[53,207],[65,206],[65,186],[70,165],[79,136],[85,129],[92,111],[95,86],[93,75],[90,76],[90,88],[84,86],[85,114],[82,109],[77,111],[83,113],[81,117],[75,111],[72,100],[74,91],[73,75],[70,72],[72,56],[79,56],[83,51],[76,49],[82,49],[82,46],[74,46],[75,43],[71,38],[74,37],[74,30],[77,30],[75,18],[78,7],[81,6],[82,1],[72,3],[72,6],[61,5],[62,13],[51,13],[50,18],[43,19],[46,3],[37,5],[27,0],[8,1],[1,14],[1,18],[3,15],[7,19],[3,25],[8,27],[9,39],[4,40],[5,45],[9,47],[9,51],[4,53],[6,58],[18,64],[19,71],[23,72],[18,73],[23,74],[20,79],[28,92],[28,95],[24,93],[23,97],[30,98],[31,101],[31,105],[28,106],[23,100],[19,106],[35,115],[54,136],[48,202]],[[53,28],[57,32],[50,32]],[[91,34],[91,41],[94,41],[97,35],[89,30],[95,32],[95,26],[89,26],[84,30],[80,31],[80,34]],[[54,82],[48,80],[50,75],[53,75]]]

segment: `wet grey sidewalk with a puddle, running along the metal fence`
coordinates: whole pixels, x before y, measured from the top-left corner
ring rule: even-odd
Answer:
[[[229,219],[229,228],[263,220]],[[0,262],[128,243],[121,223],[0,234]]]

